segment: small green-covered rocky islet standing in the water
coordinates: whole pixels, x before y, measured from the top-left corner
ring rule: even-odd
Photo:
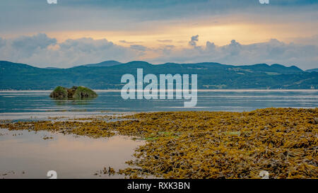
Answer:
[[[72,88],[57,86],[49,97],[55,99],[83,99],[97,98],[98,94],[85,86],[73,86]]]

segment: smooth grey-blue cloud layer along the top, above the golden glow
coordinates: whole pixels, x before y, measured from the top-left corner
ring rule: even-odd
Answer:
[[[317,20],[318,1],[270,0],[270,3],[270,6],[264,6],[259,0],[65,0],[49,5],[46,0],[10,0],[0,3],[0,25],[2,33],[38,33],[132,30],[144,21],[194,20],[197,23],[196,19],[202,17],[246,13],[252,15],[249,21],[257,22],[273,21],[270,16],[285,17],[285,21]],[[286,13],[294,17],[290,18]],[[143,27],[149,27],[147,25]]]

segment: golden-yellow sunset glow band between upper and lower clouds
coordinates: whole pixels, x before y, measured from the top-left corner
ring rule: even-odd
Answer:
[[[302,25],[302,29],[299,26]],[[317,26],[300,24],[258,24],[258,23],[230,23],[203,25],[166,25],[161,29],[107,31],[107,30],[80,30],[80,31],[52,31],[47,32],[50,37],[55,37],[59,42],[67,39],[90,37],[94,40],[107,39],[117,45],[143,45],[146,47],[160,47],[160,45],[174,45],[187,47],[189,37],[199,35],[198,45],[206,45],[207,41],[216,45],[227,45],[231,40],[242,44],[265,42],[272,38],[289,41],[293,37],[307,37],[315,35]],[[304,28],[307,28],[304,33]],[[124,42],[123,42],[124,41]]]

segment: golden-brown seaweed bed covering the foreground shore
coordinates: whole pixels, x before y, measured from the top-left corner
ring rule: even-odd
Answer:
[[[318,108],[252,112],[151,112],[116,117],[8,122],[0,128],[145,139],[117,173],[131,178],[318,178]],[[110,168],[111,170],[111,168]],[[113,173],[113,171],[112,171]]]

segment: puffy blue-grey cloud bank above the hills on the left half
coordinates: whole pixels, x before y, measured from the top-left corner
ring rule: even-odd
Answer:
[[[105,60],[128,62],[140,55],[136,50],[115,45],[106,39],[81,38],[57,43],[54,38],[38,34],[16,39],[1,39],[0,60],[21,62],[33,66],[67,68],[78,64]]]

